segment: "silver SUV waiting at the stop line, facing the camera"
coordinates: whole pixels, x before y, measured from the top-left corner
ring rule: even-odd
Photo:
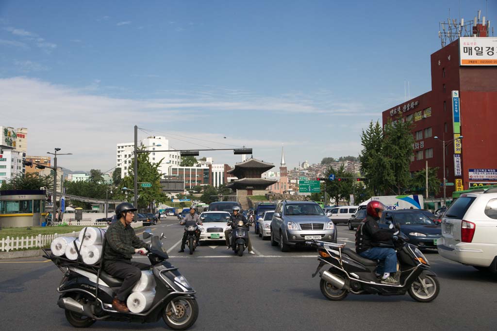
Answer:
[[[271,220],[271,245],[288,252],[312,239],[336,243],[335,226],[321,206],[314,201],[279,202]]]

